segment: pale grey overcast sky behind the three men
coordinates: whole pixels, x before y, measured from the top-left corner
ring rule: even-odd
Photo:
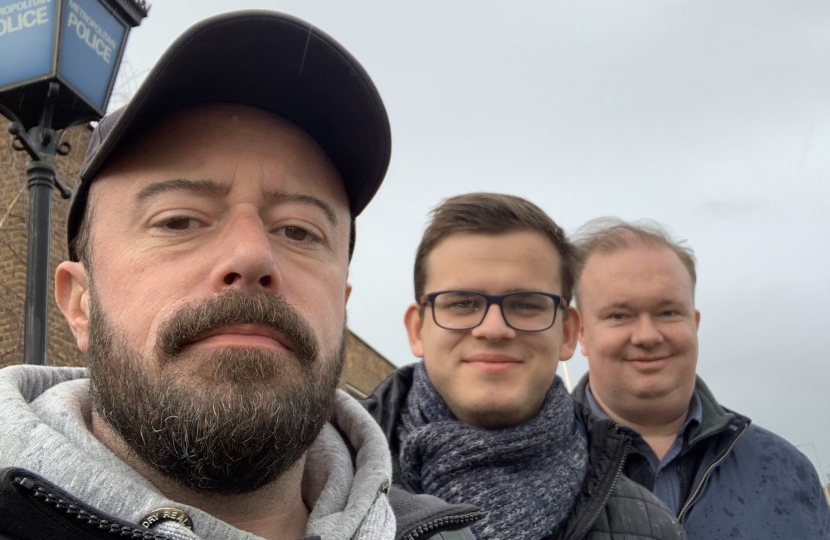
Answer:
[[[442,198],[523,196],[568,231],[653,218],[698,258],[699,373],[827,482],[830,2],[152,4],[122,96],[185,28],[239,8],[308,20],[372,76],[393,153],[358,220],[349,322],[392,362],[415,360],[401,320]],[[587,369],[579,355],[569,365],[574,378]]]

